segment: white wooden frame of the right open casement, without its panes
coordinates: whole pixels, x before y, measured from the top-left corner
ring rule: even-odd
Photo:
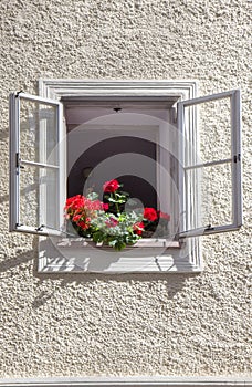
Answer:
[[[208,167],[208,166],[218,166],[223,164],[232,164],[232,223],[219,224],[214,227],[208,227],[207,224],[202,228],[191,227],[191,208],[193,207],[200,213],[200,202],[193,202],[193,197],[190,192],[186,192],[186,186],[181,177],[181,186],[183,192],[183,203],[186,211],[183,212],[182,228],[179,232],[180,238],[189,238],[197,236],[206,236],[218,232],[234,231],[242,226],[242,186],[241,186],[241,103],[240,103],[240,91],[233,90],[223,93],[207,95],[198,98],[186,100],[178,103],[178,116],[179,116],[179,130],[182,133],[185,130],[185,107],[197,106],[199,104],[211,102],[216,100],[222,100],[230,97],[231,105],[231,158],[219,159],[210,163],[198,163],[197,159],[193,159],[193,156],[189,156],[187,160],[183,157],[183,149],[180,153],[180,159],[183,165],[185,170],[196,169]],[[193,133],[185,133],[185,137],[190,139],[193,136]],[[189,144],[190,145],[190,144]],[[188,165],[189,163],[189,165]],[[195,163],[195,164],[193,164]],[[199,175],[196,175],[195,187],[199,180]],[[195,188],[196,190],[196,188]]]

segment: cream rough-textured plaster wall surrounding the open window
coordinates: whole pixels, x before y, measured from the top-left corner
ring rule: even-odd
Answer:
[[[0,376],[249,375],[250,1],[1,0]],[[38,274],[8,232],[8,94],[39,77],[240,86],[244,227],[203,240],[195,275]],[[214,140],[214,139],[212,139]]]

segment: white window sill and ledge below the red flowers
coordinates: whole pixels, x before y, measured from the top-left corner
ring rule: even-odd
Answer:
[[[199,240],[182,244],[166,239],[141,239],[123,251],[80,239],[40,237],[39,272],[190,273],[200,272]]]

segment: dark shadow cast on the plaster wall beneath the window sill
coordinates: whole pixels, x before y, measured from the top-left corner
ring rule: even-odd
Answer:
[[[178,292],[180,292],[186,281],[197,274],[159,274],[159,273],[127,273],[127,274],[96,274],[96,273],[39,273],[38,272],[38,240],[34,238],[33,249],[25,251],[15,257],[8,258],[7,255],[0,262],[0,275],[8,276],[7,272],[10,272],[9,276],[14,276],[13,269],[15,269],[15,274],[19,275],[20,269],[23,264],[30,263],[31,270],[30,275],[33,276],[33,291],[38,293],[34,295],[32,302],[32,308],[39,308],[46,304],[51,299],[55,297],[57,291],[67,291],[67,287],[73,289],[82,285],[82,289],[86,286],[98,286],[98,283],[107,284],[109,283],[130,283],[134,285],[147,284],[147,289],[151,290],[157,282],[161,282],[166,286],[167,299],[172,299]],[[27,279],[27,276],[25,276]],[[40,290],[41,289],[41,290]]]

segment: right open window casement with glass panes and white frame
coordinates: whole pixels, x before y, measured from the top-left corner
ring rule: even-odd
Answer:
[[[239,229],[242,224],[240,91],[179,102],[178,126],[182,137],[178,236]]]

